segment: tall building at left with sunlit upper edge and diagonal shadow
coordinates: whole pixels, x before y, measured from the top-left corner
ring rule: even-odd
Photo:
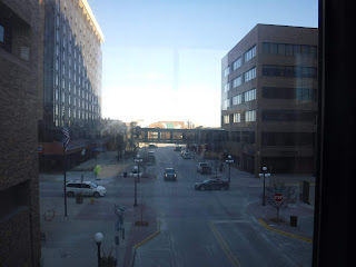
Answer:
[[[39,141],[40,162],[48,166],[61,157],[58,145],[63,127],[72,140],[69,158],[80,156],[89,146],[85,139],[96,135],[101,118],[103,34],[87,0],[46,0],[42,7],[44,116]]]

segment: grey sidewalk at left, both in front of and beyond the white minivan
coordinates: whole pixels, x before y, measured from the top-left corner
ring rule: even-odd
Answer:
[[[66,176],[69,179],[93,180],[96,178],[92,169],[96,165],[101,166],[100,184],[120,180],[129,182],[123,178],[122,172],[132,168],[132,160],[120,160],[116,158],[116,152],[106,152],[98,159],[91,159],[75,169],[68,170]],[[123,180],[122,180],[123,179]],[[141,178],[141,184],[150,182],[154,178]],[[63,175],[40,175],[40,181],[63,181]],[[115,222],[117,217],[113,212],[115,200],[96,198],[91,204],[91,198],[85,198],[83,204],[76,204],[75,198],[67,198],[67,216],[65,216],[65,200],[60,198],[40,198],[40,224],[44,234],[41,249],[41,266],[43,267],[71,267],[71,266],[98,266],[97,245],[93,240],[96,233],[103,235],[101,244],[102,253],[111,254],[118,258],[117,266],[131,266],[134,256],[132,247],[157,231],[157,220],[154,210],[140,205],[132,207],[132,202],[119,202],[127,207],[125,211],[125,239],[122,233],[117,231]],[[148,226],[136,226],[137,221],[147,221]],[[52,209],[44,216],[46,210]],[[116,246],[116,236],[119,237],[119,246]]]

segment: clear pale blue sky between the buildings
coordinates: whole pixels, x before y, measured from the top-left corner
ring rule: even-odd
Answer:
[[[257,23],[318,27],[317,0],[88,0],[103,32],[102,117],[219,127],[221,59]]]

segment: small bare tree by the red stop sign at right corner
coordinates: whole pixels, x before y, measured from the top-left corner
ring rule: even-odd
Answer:
[[[296,189],[286,186],[283,180],[271,178],[266,187],[265,200],[276,209],[277,218],[279,218],[280,209],[297,201]]]

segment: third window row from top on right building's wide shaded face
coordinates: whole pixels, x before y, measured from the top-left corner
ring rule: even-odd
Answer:
[[[295,99],[303,102],[317,100],[316,89],[310,88],[283,88],[283,87],[264,87],[263,97],[270,99]]]

